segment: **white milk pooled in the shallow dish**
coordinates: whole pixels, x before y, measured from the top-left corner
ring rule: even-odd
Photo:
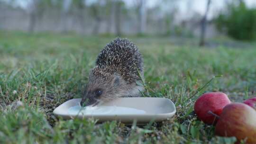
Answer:
[[[128,108],[128,107],[117,107],[117,106],[87,106],[82,108],[81,106],[74,106],[68,109],[70,115],[132,115],[132,114],[145,114],[146,111]]]

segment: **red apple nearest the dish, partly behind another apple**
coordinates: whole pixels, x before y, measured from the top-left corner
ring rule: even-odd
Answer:
[[[228,96],[223,92],[208,92],[199,97],[194,106],[195,113],[204,123],[213,125],[217,118],[210,114],[220,115],[222,109],[230,104]]]

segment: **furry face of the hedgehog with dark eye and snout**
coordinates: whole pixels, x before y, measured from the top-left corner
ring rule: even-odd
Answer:
[[[102,101],[115,99],[121,92],[121,77],[117,74],[94,75],[91,73],[81,106],[95,106]]]

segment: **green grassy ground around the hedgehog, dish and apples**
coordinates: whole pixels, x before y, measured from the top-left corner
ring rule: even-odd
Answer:
[[[97,54],[112,38],[1,31],[0,143],[232,144],[233,139],[214,136],[214,127],[193,115],[193,104],[206,91],[223,91],[233,101],[252,97],[253,45],[199,48],[185,42],[174,45],[170,38],[130,37],[144,56],[145,96],[172,99],[175,117],[137,127],[53,116],[53,109],[64,101],[81,97]],[[219,75],[223,77],[201,89]],[[23,106],[17,108],[17,100]]]

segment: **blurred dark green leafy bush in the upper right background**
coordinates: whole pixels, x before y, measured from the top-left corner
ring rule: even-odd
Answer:
[[[256,8],[248,8],[242,1],[227,3],[215,20],[219,31],[238,40],[256,39]]]

